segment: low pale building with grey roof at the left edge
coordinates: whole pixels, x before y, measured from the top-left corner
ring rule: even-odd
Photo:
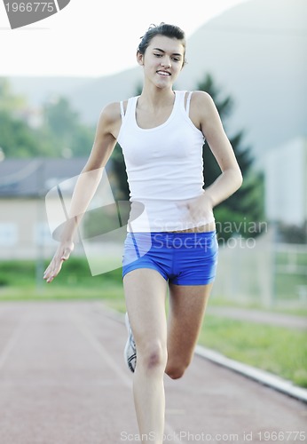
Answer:
[[[85,157],[5,159],[0,163],[0,260],[53,254],[45,194],[81,172]]]

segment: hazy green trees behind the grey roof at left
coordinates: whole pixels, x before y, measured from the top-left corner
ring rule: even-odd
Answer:
[[[31,123],[33,112],[42,123]],[[7,79],[0,78],[0,147],[6,157],[70,157],[89,155],[94,128],[80,122],[65,98],[33,110],[14,94]],[[1,153],[0,153],[1,154]]]

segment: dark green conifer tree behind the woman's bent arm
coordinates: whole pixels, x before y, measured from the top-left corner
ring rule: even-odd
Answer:
[[[232,113],[232,97],[221,97],[219,88],[212,75],[209,74],[205,75],[203,81],[198,83],[197,89],[209,93],[225,126],[227,117]],[[216,207],[217,231],[220,238],[223,237],[224,240],[233,234],[254,237],[259,234],[258,227],[261,226],[260,221],[264,218],[264,179],[252,168],[254,159],[251,155],[251,148],[244,146],[244,131],[237,132],[229,139],[244,181],[235,194]],[[203,162],[205,187],[207,187],[221,173],[207,141],[203,147]]]

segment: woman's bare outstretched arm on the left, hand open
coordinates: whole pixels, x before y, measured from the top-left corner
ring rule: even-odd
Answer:
[[[77,226],[97,190],[103,169],[114,150],[120,125],[121,116],[118,104],[112,103],[106,106],[99,116],[91,155],[75,184],[68,219],[60,234],[59,247],[43,274],[43,279],[48,283],[59,274],[63,262],[74,250]]]

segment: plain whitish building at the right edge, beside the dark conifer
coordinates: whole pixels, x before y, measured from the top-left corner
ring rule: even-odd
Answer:
[[[303,225],[307,220],[307,139],[291,140],[267,153],[264,180],[266,218]]]

